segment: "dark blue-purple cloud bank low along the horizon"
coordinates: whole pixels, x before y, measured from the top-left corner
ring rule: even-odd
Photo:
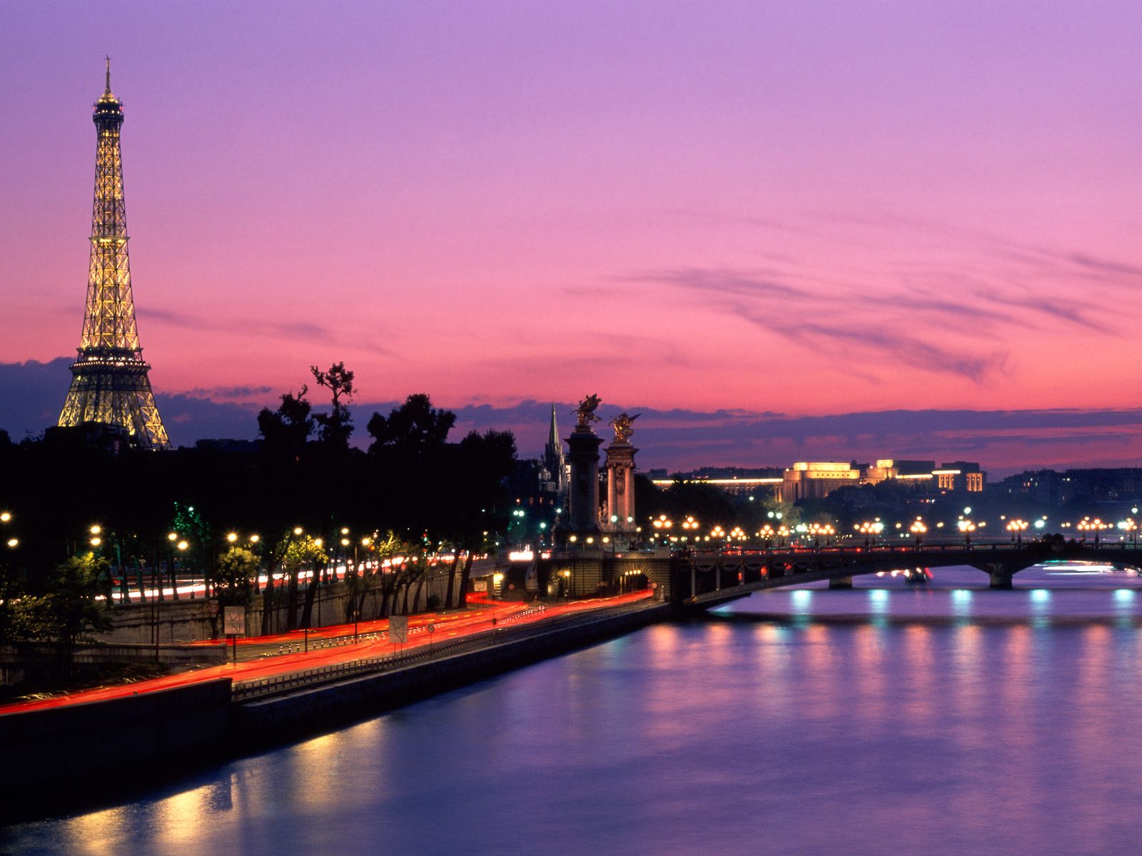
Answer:
[[[58,418],[71,373],[70,358],[47,363],[0,363],[0,428],[15,439],[39,434]],[[263,389],[250,387],[251,390]],[[158,393],[159,410],[176,445],[207,437],[252,439],[258,407],[195,394]],[[223,395],[238,390],[224,388]],[[600,390],[604,391],[605,390]],[[449,406],[436,402],[437,406]],[[368,445],[364,426],[373,412],[396,401],[353,405],[355,442]],[[563,436],[574,402],[556,402]],[[457,413],[456,437],[489,428],[515,431],[520,452],[538,455],[546,439],[550,404],[471,403]],[[831,415],[785,415],[749,410],[660,409],[637,401],[604,401],[603,421],[641,412],[636,444],[642,469],[700,466],[785,467],[794,460],[875,460],[910,457],[955,460],[970,455],[994,474],[1023,468],[1126,466],[1142,459],[1142,407],[1121,410],[866,410]],[[605,434],[605,429],[604,429]]]

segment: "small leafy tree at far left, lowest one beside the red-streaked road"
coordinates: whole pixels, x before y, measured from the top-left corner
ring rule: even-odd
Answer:
[[[15,606],[17,632],[27,639],[42,639],[59,646],[70,669],[75,644],[91,633],[111,629],[107,604],[111,600],[110,564],[93,552],[72,556],[55,566],[34,591],[25,593]],[[103,597],[103,601],[96,598]]]

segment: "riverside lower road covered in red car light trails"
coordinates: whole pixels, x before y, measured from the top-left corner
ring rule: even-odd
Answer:
[[[490,630],[494,625],[537,623],[558,615],[581,612],[603,605],[619,606],[650,598],[651,591],[635,591],[612,598],[592,598],[569,603],[548,605],[542,611],[520,603],[483,601],[476,608],[465,612],[421,613],[409,616],[409,641],[400,647],[402,651],[428,646],[431,644],[451,640],[464,636],[473,636]],[[494,622],[494,623],[493,623]],[[428,632],[432,624],[434,632]],[[53,698],[40,698],[27,702],[16,702],[0,705],[0,716],[18,713],[45,708],[59,708],[70,704],[102,702],[111,698],[122,698],[142,693],[153,693],[160,689],[183,687],[217,678],[232,678],[235,684],[247,680],[259,680],[290,672],[333,665],[363,657],[379,657],[393,654],[397,646],[388,641],[388,620],[362,621],[357,627],[357,641],[353,641],[353,624],[337,624],[320,628],[308,633],[309,649],[296,653],[279,651],[304,646],[303,631],[280,633],[267,637],[240,639],[238,644],[238,662],[227,662],[192,671],[164,675],[135,684],[118,684],[114,686],[83,689],[69,695]],[[220,641],[198,643],[218,645]]]

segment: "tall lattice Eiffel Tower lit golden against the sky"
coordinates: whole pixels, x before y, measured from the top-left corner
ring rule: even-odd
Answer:
[[[140,449],[170,449],[167,429],[151,393],[143,360],[131,272],[127,258],[127,211],[123,204],[123,161],[119,129],[123,105],[107,84],[95,103],[98,145],[95,155],[95,207],[91,211],[91,264],[79,358],[72,363],[72,383],[59,414],[62,427],[102,422],[126,428]]]

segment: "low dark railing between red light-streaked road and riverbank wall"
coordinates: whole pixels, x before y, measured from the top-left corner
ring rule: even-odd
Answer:
[[[640,605],[644,605],[638,601]],[[538,622],[525,625],[506,627],[513,624],[528,615],[544,612],[542,608],[525,609],[515,615],[498,621],[491,630],[484,630],[469,637],[460,639],[449,639],[436,643],[429,647],[418,647],[408,653],[391,654],[388,656],[362,657],[349,660],[344,663],[323,665],[317,669],[307,669],[299,672],[275,675],[271,678],[258,678],[257,680],[235,681],[232,691],[234,702],[248,702],[256,698],[264,698],[272,695],[280,695],[303,687],[313,687],[321,684],[330,684],[346,677],[360,675],[372,675],[377,672],[401,669],[413,663],[421,663],[427,660],[435,660],[445,655],[459,653],[460,651],[475,651],[476,648],[492,647],[501,643],[517,639],[525,639],[529,636],[538,636],[547,632],[552,628],[562,627],[581,619],[585,615],[597,615],[602,612],[619,612],[629,609],[630,604],[592,606],[585,609],[577,609],[573,613],[556,615],[550,619],[542,619]]]

